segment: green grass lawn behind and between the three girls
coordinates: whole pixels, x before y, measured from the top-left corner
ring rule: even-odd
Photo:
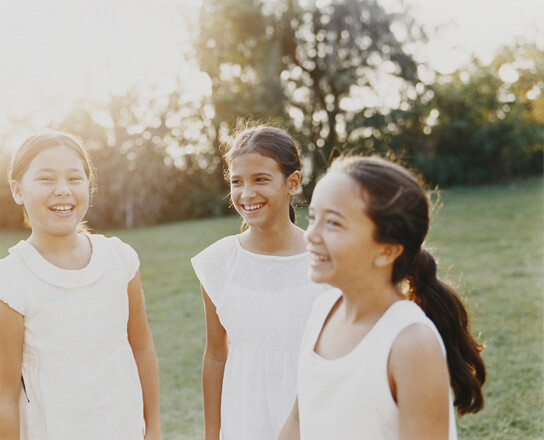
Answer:
[[[487,348],[485,409],[458,418],[463,440],[541,439],[543,414],[542,180],[442,192],[428,246],[460,290]],[[301,226],[305,226],[304,220]],[[163,437],[202,438],[204,321],[189,258],[236,233],[236,217],[108,231],[139,253],[160,363]],[[0,256],[27,234],[0,232]]]

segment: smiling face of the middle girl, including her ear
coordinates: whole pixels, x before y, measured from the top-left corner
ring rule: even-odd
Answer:
[[[236,157],[230,167],[230,195],[236,211],[250,227],[267,227],[289,219],[289,199],[296,194],[300,173],[287,179],[278,163],[255,152]]]

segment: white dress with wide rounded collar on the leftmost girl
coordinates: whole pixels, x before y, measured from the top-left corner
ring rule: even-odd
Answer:
[[[0,260],[0,300],[24,317],[21,440],[141,440],[143,401],[127,339],[136,252],[89,235],[92,256],[63,270],[26,241]]]

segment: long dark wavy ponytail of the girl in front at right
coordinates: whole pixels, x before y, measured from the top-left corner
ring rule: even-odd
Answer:
[[[469,332],[467,310],[457,293],[436,277],[436,262],[428,251],[419,250],[410,272],[408,299],[433,321],[446,346],[454,404],[459,414],[478,412],[484,404],[484,347]]]

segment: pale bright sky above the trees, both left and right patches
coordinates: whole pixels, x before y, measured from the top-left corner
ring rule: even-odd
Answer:
[[[516,37],[544,48],[544,0],[380,1],[392,10],[412,9],[432,36],[422,56],[444,73],[473,53],[488,62]],[[168,90],[181,77],[188,89],[204,93],[207,78],[183,55],[199,4],[0,0],[0,131],[10,117],[28,114],[33,128],[41,128],[77,99],[107,100],[139,82]],[[192,17],[189,24],[184,15]]]

